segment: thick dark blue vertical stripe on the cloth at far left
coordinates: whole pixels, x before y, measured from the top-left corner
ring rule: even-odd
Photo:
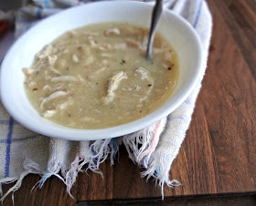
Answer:
[[[5,151],[5,178],[9,177],[9,167],[10,167],[10,151],[11,151],[11,142],[12,142],[12,135],[13,135],[13,127],[14,126],[14,119],[10,117],[9,120],[9,128],[7,134],[7,145]]]

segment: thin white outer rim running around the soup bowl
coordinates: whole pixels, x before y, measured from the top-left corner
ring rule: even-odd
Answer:
[[[36,131],[39,134],[52,137],[52,138],[59,138],[59,139],[69,139],[69,140],[96,140],[96,139],[111,139],[115,137],[121,137],[124,135],[127,135],[129,133],[133,133],[134,131],[137,131],[139,129],[144,129],[148,127],[149,125],[154,124],[157,120],[161,118],[165,118],[167,115],[169,115],[172,111],[174,111],[176,108],[178,108],[189,96],[189,94],[192,92],[192,90],[196,87],[201,73],[203,72],[203,48],[201,41],[199,39],[199,36],[197,35],[195,29],[180,15],[176,15],[176,13],[172,12],[171,10],[165,8],[164,11],[168,15],[173,15],[178,19],[178,21],[186,26],[190,31],[191,34],[193,34],[195,44],[197,45],[198,49],[198,60],[197,60],[197,75],[194,76],[193,80],[189,84],[189,87],[183,92],[182,96],[179,96],[175,104],[173,104],[172,107],[168,108],[163,108],[165,106],[162,105],[160,108],[155,109],[152,113],[149,115],[136,119],[132,122],[111,127],[111,128],[106,128],[106,129],[71,129],[68,127],[64,127],[65,129],[68,129],[70,132],[67,133],[67,131],[56,133],[56,130],[53,129],[44,129],[44,127],[38,127],[37,125],[33,125],[31,123],[28,123],[25,121],[24,118],[20,117],[17,113],[18,110],[16,108],[13,108],[7,98],[8,92],[5,88],[5,84],[3,81],[4,75],[5,75],[5,69],[6,69],[6,64],[8,58],[11,57],[13,50],[15,49],[15,46],[27,36],[28,33],[33,32],[34,30],[37,29],[37,26],[40,26],[41,24],[45,24],[45,22],[50,21],[51,18],[58,16],[58,15],[63,15],[63,13],[68,13],[70,10],[76,10],[80,6],[89,6],[89,5],[116,5],[116,4],[129,4],[129,5],[144,5],[148,6],[148,8],[153,8],[154,5],[151,4],[145,4],[144,2],[134,2],[134,1],[113,1],[113,2],[92,2],[88,3],[85,5],[79,5],[79,6],[74,6],[70,7],[68,9],[65,9],[64,11],[59,12],[58,14],[55,15],[50,15],[47,18],[43,19],[40,21],[37,25],[31,27],[30,29],[27,30],[22,36],[18,37],[16,39],[16,42],[9,48],[8,52],[5,55],[5,58],[2,62],[1,65],[1,72],[0,72],[0,96],[2,103],[5,107],[5,109],[8,111],[8,113],[11,115],[11,117],[15,118],[17,122],[19,122],[21,125],[26,127],[27,129],[31,129],[33,131]],[[156,113],[156,114],[155,114]],[[56,123],[55,123],[56,124]],[[58,125],[58,124],[56,124]],[[93,137],[93,138],[91,138]]]

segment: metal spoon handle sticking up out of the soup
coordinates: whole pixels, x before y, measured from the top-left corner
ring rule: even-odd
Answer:
[[[147,48],[145,53],[145,58],[148,60],[152,58],[152,46],[155,38],[155,30],[156,30],[156,26],[159,21],[159,18],[161,16],[162,10],[163,10],[163,0],[156,0],[153,13],[152,13],[150,33],[149,33],[149,38],[148,38],[148,43],[147,43]]]

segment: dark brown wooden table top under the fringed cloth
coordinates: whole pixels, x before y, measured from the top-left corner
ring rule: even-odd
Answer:
[[[164,203],[256,204],[256,2],[208,0],[214,26],[208,69],[187,138],[172,165]],[[71,193],[57,178],[32,191],[39,177],[28,175],[15,193],[16,205],[150,204],[161,202],[155,181],[121,149],[119,162],[99,174],[80,173]],[[10,186],[4,186],[6,191]],[[7,197],[4,205],[11,205]]]

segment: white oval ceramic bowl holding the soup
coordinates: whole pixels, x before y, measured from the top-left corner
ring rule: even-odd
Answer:
[[[41,21],[16,40],[1,67],[1,98],[13,118],[40,134],[71,140],[109,139],[144,129],[174,111],[195,88],[202,71],[202,47],[197,34],[182,17],[164,10],[158,31],[175,48],[179,79],[165,105],[144,118],[108,129],[70,129],[41,118],[24,88],[23,67],[30,67],[43,46],[66,31],[98,22],[128,22],[149,27],[153,5],[142,2],[98,2],[69,8]]]

